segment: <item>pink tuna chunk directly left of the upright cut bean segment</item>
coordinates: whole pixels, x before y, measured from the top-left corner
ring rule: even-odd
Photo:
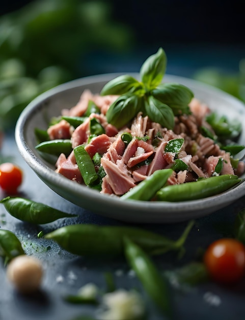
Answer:
[[[61,153],[57,160],[56,166],[57,173],[62,174],[70,180],[78,182],[78,184],[83,182],[83,178],[81,177],[80,170],[78,169],[73,151],[67,158],[64,153]]]

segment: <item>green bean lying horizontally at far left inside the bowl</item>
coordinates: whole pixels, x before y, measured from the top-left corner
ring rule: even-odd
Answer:
[[[38,151],[44,153],[49,153],[58,156],[61,153],[64,153],[66,156],[68,156],[72,151],[72,144],[71,140],[69,139],[56,139],[41,142],[35,148]]]

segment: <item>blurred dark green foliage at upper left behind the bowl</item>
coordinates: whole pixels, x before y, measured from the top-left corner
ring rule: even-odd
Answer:
[[[0,18],[0,127],[37,95],[84,76],[91,51],[123,52],[132,32],[102,1],[36,0]]]

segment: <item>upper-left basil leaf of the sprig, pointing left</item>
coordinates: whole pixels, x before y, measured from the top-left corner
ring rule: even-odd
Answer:
[[[107,82],[102,88],[100,95],[124,95],[131,89],[142,87],[142,84],[129,75],[119,76]]]

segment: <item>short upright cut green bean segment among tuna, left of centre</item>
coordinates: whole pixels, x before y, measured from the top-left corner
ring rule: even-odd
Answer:
[[[76,158],[76,163],[80,170],[81,176],[84,179],[84,183],[90,186],[98,179],[98,175],[95,171],[94,163],[85,150],[84,145],[79,145],[74,148],[74,155]]]

